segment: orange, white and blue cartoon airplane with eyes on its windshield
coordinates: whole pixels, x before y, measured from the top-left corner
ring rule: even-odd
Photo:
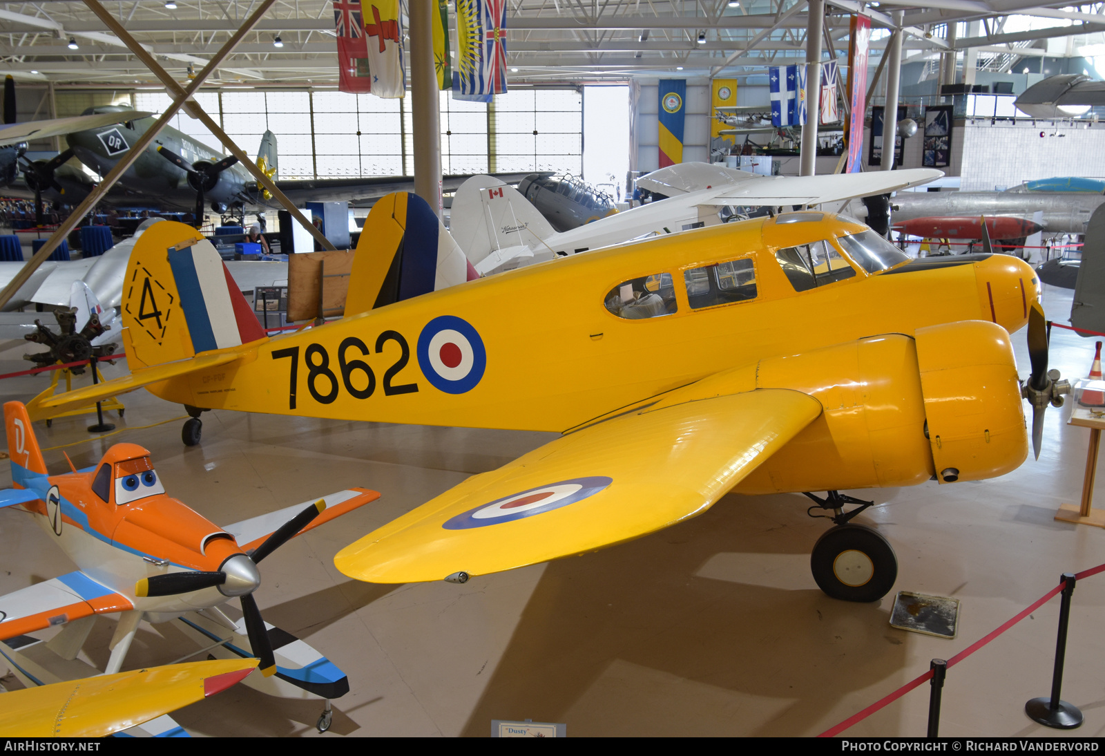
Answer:
[[[59,670],[72,668],[57,658],[76,658],[97,615],[118,616],[105,674],[119,672],[141,620],[173,621],[218,658],[259,658],[263,675],[245,684],[282,697],[325,699],[318,727],[329,727],[329,700],[349,682],[302,640],[262,620],[253,598],[257,564],[379,493],[341,491],[222,528],[169,497],[138,444],[117,443],[94,468],[51,475],[23,405],[6,403],[4,422],[15,487],[0,492],[0,506],[34,515],[80,568],[0,596],[0,654],[24,685],[67,679]],[[238,622],[219,609],[231,598],[241,601]],[[25,634],[57,624],[65,627],[45,644],[53,657]]]

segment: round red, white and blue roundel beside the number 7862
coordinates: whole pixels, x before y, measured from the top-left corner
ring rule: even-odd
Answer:
[[[483,378],[487,351],[471,323],[453,315],[441,315],[427,323],[419,334],[418,364],[434,388],[446,393],[464,393]]]

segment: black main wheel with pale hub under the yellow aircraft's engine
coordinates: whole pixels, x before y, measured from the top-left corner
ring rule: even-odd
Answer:
[[[897,557],[886,538],[862,525],[838,525],[810,555],[818,587],[842,601],[877,601],[897,580]]]

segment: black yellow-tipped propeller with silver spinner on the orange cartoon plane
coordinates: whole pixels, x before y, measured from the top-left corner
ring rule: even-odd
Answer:
[[[280,526],[265,538],[257,548],[249,554],[235,554],[223,563],[217,573],[168,573],[143,578],[135,584],[135,595],[172,596],[189,594],[203,588],[219,587],[224,596],[236,596],[242,602],[242,616],[245,619],[245,633],[250,638],[253,655],[261,660],[261,671],[267,676],[276,671],[276,659],[273,655],[272,643],[265,631],[261,610],[257,609],[253,591],[261,585],[261,574],[257,563],[286,544],[296,533],[305,528],[326,508],[326,501],[318,500],[303,512]]]

